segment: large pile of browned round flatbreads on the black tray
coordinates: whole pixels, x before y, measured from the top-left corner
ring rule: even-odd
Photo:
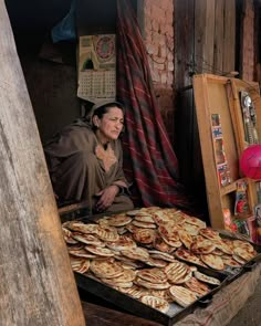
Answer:
[[[247,241],[221,239],[177,209],[142,208],[92,223],[70,221],[62,231],[74,272],[164,313],[171,302],[186,307],[220,285],[196,266],[221,271],[257,254]]]

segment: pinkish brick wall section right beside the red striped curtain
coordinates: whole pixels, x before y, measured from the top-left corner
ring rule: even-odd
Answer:
[[[144,41],[160,113],[174,139],[174,1],[144,0]]]

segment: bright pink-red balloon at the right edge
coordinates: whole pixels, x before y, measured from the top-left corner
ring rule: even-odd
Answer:
[[[261,180],[261,145],[251,145],[244,149],[239,165],[246,177]]]

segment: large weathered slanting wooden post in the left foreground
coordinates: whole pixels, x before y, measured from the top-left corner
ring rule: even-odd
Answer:
[[[43,150],[0,0],[0,324],[85,325]]]

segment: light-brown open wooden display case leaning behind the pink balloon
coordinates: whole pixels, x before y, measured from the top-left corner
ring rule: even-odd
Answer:
[[[261,140],[261,101],[258,83],[210,74],[194,76],[194,96],[206,179],[209,218],[212,228],[225,229],[223,212],[248,219],[258,203],[257,181],[241,176],[239,158],[252,139],[246,133],[242,94],[254,107],[255,144]],[[234,214],[236,194],[246,181],[248,210]]]

